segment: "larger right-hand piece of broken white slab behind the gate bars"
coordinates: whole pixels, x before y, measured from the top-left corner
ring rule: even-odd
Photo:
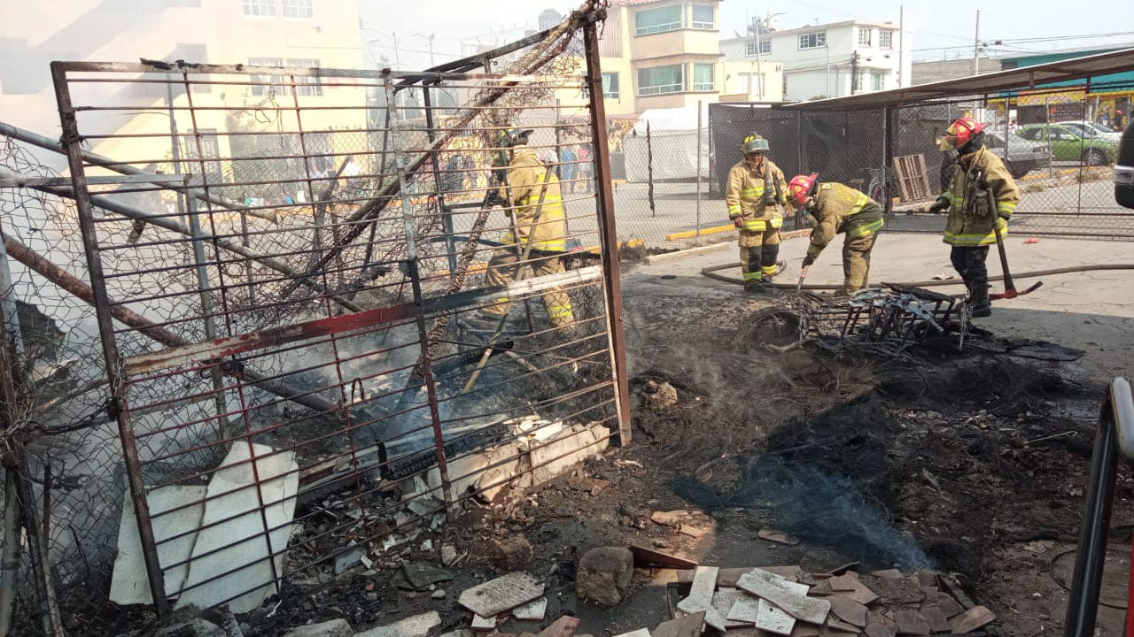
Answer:
[[[276,578],[284,572],[298,489],[294,451],[234,443],[209,481],[202,529],[177,608],[228,601],[234,613],[247,613],[278,593]]]

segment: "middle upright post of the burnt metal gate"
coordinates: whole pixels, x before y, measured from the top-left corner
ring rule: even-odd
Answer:
[[[456,502],[452,499],[452,484],[449,482],[449,462],[445,453],[445,431],[441,428],[441,413],[438,409],[437,385],[433,382],[433,360],[429,354],[429,330],[425,328],[425,316],[422,314],[421,279],[417,275],[417,241],[414,237],[414,209],[409,202],[409,181],[406,177],[406,154],[401,144],[401,133],[398,126],[397,104],[393,97],[393,80],[386,78],[386,108],[390,109],[390,141],[393,146],[393,164],[398,172],[399,193],[401,195],[401,220],[406,228],[406,265],[409,267],[409,281],[413,286],[414,303],[417,311],[417,343],[421,349],[420,370],[425,384],[425,396],[429,400],[430,422],[433,425],[433,443],[437,445],[437,469],[441,475],[441,494],[445,498],[445,515],[449,523],[456,521]],[[456,272],[454,269],[451,272]],[[409,391],[407,387],[405,391]]]

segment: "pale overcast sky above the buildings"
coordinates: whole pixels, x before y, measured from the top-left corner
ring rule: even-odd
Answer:
[[[398,57],[405,69],[429,63],[426,37],[434,34],[433,53],[438,63],[462,57],[462,41],[480,36],[483,42],[501,42],[523,35],[523,28],[535,28],[539,14],[545,8],[567,12],[579,5],[564,0],[359,0],[363,36],[374,54],[389,56],[393,61],[392,32],[398,34]],[[721,36],[743,33],[745,18],[761,14],[778,14],[780,28],[813,23],[840,22],[850,18],[892,20],[898,23],[902,2],[888,0],[723,0]],[[914,58],[941,59],[942,56],[972,57],[976,10],[981,9],[981,40],[1046,39],[1036,42],[1006,42],[996,52],[1051,51],[1099,44],[1134,42],[1134,2],[1108,1],[1067,5],[1065,1],[1034,0],[922,0],[905,2],[905,25],[911,33]],[[497,34],[507,29],[506,34]],[[415,36],[421,33],[423,36]],[[1067,36],[1116,34],[1109,37],[1069,40]],[[509,37],[514,36],[514,37]],[[1052,37],[1064,37],[1051,40]],[[503,40],[507,39],[507,40]],[[942,49],[948,48],[948,49]],[[376,65],[376,62],[375,62]]]

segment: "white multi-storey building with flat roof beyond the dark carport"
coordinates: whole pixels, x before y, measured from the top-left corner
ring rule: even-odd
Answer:
[[[776,60],[782,65],[786,101],[841,97],[909,85],[909,34],[889,22],[764,28],[747,37],[721,40],[720,50],[726,60]]]

